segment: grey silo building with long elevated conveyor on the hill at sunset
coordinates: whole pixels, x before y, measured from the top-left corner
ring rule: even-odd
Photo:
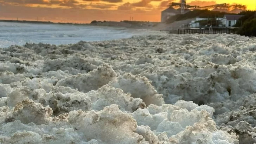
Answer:
[[[179,3],[172,2],[168,5],[168,8],[162,11],[161,21],[165,22],[168,18],[177,14],[185,14],[194,9],[212,9],[212,11],[220,11],[226,13],[240,13],[245,11],[247,7],[245,5],[229,5],[226,3],[216,4],[210,6],[190,6],[186,4],[186,0],[180,0]]]

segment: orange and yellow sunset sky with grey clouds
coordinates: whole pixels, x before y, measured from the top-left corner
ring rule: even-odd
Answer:
[[[160,21],[169,2],[179,0],[0,0],[0,19],[84,23],[92,20]],[[256,0],[187,0],[188,5],[242,4],[255,10]]]

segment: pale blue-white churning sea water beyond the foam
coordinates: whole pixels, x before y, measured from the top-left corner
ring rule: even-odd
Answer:
[[[130,38],[150,33],[127,28],[75,26],[58,24],[24,24],[0,22],[0,47],[27,43],[73,44],[83,41],[103,41]]]

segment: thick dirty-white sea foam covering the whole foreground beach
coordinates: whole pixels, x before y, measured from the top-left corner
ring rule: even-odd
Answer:
[[[0,48],[1,144],[254,144],[256,39]]]

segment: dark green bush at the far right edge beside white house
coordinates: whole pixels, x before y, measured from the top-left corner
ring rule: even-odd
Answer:
[[[243,26],[238,30],[237,33],[248,37],[256,37],[256,19],[254,18],[250,21],[244,22]]]

